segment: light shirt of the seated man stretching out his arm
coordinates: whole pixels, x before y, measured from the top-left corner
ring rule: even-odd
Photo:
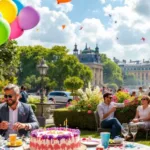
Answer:
[[[107,105],[104,102],[102,102],[97,106],[100,121],[114,118],[114,112],[112,112],[107,118],[103,119],[104,114],[108,113],[110,109],[112,109],[113,107],[116,108],[124,107],[124,103],[111,102],[109,105]]]

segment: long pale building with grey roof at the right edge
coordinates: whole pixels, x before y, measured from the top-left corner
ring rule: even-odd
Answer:
[[[150,61],[119,61],[114,57],[116,62],[122,69],[123,75],[133,74],[138,80],[138,86],[150,86]]]

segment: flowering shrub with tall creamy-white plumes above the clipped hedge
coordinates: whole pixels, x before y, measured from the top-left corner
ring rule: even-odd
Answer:
[[[86,88],[85,92],[82,89],[78,90],[78,98],[79,100],[73,100],[71,102],[71,105],[68,106],[69,110],[91,113],[97,109],[97,105],[103,100],[99,87],[96,87],[92,91],[90,85]]]

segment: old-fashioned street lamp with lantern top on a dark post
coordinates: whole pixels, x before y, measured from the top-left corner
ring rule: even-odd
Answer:
[[[41,104],[41,115],[38,117],[39,120],[39,124],[40,126],[45,126],[45,117],[43,116],[43,102],[44,102],[44,85],[43,85],[43,77],[47,74],[47,70],[48,70],[48,66],[44,60],[44,58],[42,58],[41,62],[39,63],[39,65],[37,65],[37,69],[41,75],[41,100],[40,100],[40,104]]]

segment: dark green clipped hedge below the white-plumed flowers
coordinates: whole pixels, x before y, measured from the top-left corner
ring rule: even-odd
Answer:
[[[87,114],[87,112],[68,111],[66,109],[56,109],[54,111],[55,126],[63,126],[67,118],[69,128],[79,128],[96,130],[96,122],[94,114]]]

